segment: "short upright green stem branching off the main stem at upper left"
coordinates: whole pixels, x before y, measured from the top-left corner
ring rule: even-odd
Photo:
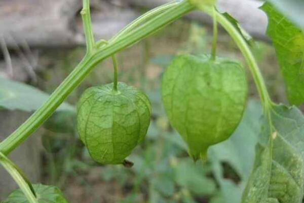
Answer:
[[[95,46],[95,40],[92,30],[91,13],[90,13],[90,0],[83,0],[83,9],[81,11],[81,17],[84,24],[87,53],[90,53]]]

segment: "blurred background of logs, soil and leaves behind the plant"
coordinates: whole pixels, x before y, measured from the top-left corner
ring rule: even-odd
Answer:
[[[96,39],[109,39],[140,14],[166,0],[94,0]],[[231,13],[255,39],[252,50],[275,101],[286,102],[274,49],[265,37],[267,17],[255,0],[222,0],[219,10]],[[85,54],[80,0],[0,0],[0,101],[16,94],[11,111],[0,111],[0,140],[13,132],[47,98],[19,81],[48,94],[64,80]],[[141,88],[153,105],[146,139],[128,158],[132,168],[99,165],[78,139],[72,110],[82,92],[112,82],[112,63],[105,60],[66,100],[71,108],[57,111],[12,158],[33,183],[60,187],[69,202],[240,202],[254,161],[261,106],[250,73],[250,94],[244,118],[232,138],[210,148],[209,159],[194,163],[164,112],[162,74],[174,55],[208,54],[211,19],[192,13],[155,35],[117,54],[119,80]],[[244,59],[220,29],[218,55]],[[21,85],[21,86],[20,86]],[[17,188],[0,169],[0,201]]]

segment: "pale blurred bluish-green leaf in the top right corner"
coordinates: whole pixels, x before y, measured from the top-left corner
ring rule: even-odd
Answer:
[[[288,19],[304,28],[304,1],[303,0],[268,0],[275,5]]]

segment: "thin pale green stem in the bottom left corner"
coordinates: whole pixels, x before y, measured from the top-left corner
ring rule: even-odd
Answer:
[[[20,174],[15,164],[2,153],[0,153],[0,163],[18,184],[27,200],[30,203],[38,203],[38,200],[33,193],[33,188],[31,188],[29,183],[23,178],[23,175]]]

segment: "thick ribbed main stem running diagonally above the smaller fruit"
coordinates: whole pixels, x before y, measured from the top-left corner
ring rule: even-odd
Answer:
[[[84,1],[84,3],[88,3],[87,0]],[[155,30],[164,27],[194,9],[195,7],[188,1],[179,2],[172,8],[150,19],[148,22],[130,30],[128,33],[124,33],[123,36],[111,41],[111,43],[105,44],[94,52],[88,52],[70,75],[51,94],[49,99],[8,138],[0,143],[0,152],[7,155],[24,142],[31,133],[39,128],[54,113],[71,91],[85,79],[99,62],[146,38]],[[87,29],[89,29],[88,26],[85,26],[85,33],[91,33]],[[91,36],[91,34],[88,36]],[[88,45],[92,46],[90,41],[91,40],[87,41]]]

